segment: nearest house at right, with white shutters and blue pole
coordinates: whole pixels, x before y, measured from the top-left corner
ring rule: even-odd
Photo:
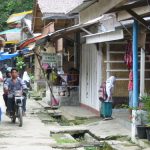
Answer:
[[[86,107],[99,110],[99,86],[110,75],[114,75],[117,77],[114,104],[128,105],[129,70],[124,56],[128,42],[131,41],[133,107],[138,107],[139,95],[149,91],[149,4],[145,0],[92,2],[90,5],[83,2],[71,11],[79,12],[80,22],[76,28],[86,33],[81,34],[80,102]],[[133,139],[135,132],[133,123]]]

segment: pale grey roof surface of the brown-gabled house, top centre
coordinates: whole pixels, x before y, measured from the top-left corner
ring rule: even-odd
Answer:
[[[84,0],[38,0],[38,4],[42,14],[44,13],[66,14],[70,10],[82,4],[83,1]]]

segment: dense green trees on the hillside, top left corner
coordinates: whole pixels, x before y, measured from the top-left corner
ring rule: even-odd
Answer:
[[[33,0],[0,0],[0,31],[8,29],[7,19],[13,13],[32,10]]]

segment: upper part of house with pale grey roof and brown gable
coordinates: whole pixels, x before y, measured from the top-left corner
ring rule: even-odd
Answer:
[[[76,16],[67,15],[67,12],[81,4],[82,1],[36,0],[33,9],[33,32],[42,33],[44,27],[50,22],[55,23],[55,30],[73,25]]]

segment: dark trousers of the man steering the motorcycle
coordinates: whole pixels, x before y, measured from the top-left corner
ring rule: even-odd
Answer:
[[[26,100],[27,98],[25,97],[23,99],[23,111],[26,112]],[[7,100],[7,110],[8,112],[14,112],[15,111],[15,100],[14,98],[8,98]]]

